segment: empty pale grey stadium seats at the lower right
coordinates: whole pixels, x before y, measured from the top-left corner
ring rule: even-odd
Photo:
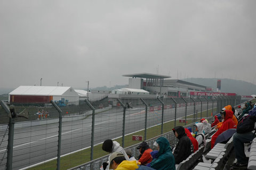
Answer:
[[[209,136],[209,139],[206,140],[205,146],[200,147],[186,160],[183,160],[180,164],[177,164],[176,169],[230,169],[230,164],[233,163],[235,155],[233,137],[231,137],[226,144],[217,143],[211,149],[211,137],[214,132],[215,131],[212,129],[212,132],[210,133],[211,136]],[[246,155],[249,155],[247,169],[256,169],[256,137],[252,141],[251,145],[249,144],[249,147],[246,149],[248,148],[250,153],[246,153]]]

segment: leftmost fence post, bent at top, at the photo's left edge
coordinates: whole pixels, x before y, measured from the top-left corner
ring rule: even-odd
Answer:
[[[6,169],[12,170],[12,158],[13,158],[13,139],[14,139],[14,121],[12,120],[11,111],[6,103],[1,100],[0,102],[3,109],[9,116],[9,132],[8,132],[8,144],[7,144],[7,162],[6,162]]]

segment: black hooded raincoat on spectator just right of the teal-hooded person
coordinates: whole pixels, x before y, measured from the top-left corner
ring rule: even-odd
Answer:
[[[193,144],[185,133],[185,129],[182,126],[174,127],[173,132],[178,133],[179,142],[175,147],[173,156],[175,158],[175,164],[181,163],[183,160],[187,159],[191,153],[194,152]]]

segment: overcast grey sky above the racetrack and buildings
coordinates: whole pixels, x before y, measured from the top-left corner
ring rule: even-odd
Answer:
[[[256,83],[256,1],[0,1],[0,87],[140,72]]]

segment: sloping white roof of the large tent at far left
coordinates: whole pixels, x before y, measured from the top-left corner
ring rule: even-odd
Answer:
[[[9,95],[62,95],[71,87],[62,86],[19,86]]]

